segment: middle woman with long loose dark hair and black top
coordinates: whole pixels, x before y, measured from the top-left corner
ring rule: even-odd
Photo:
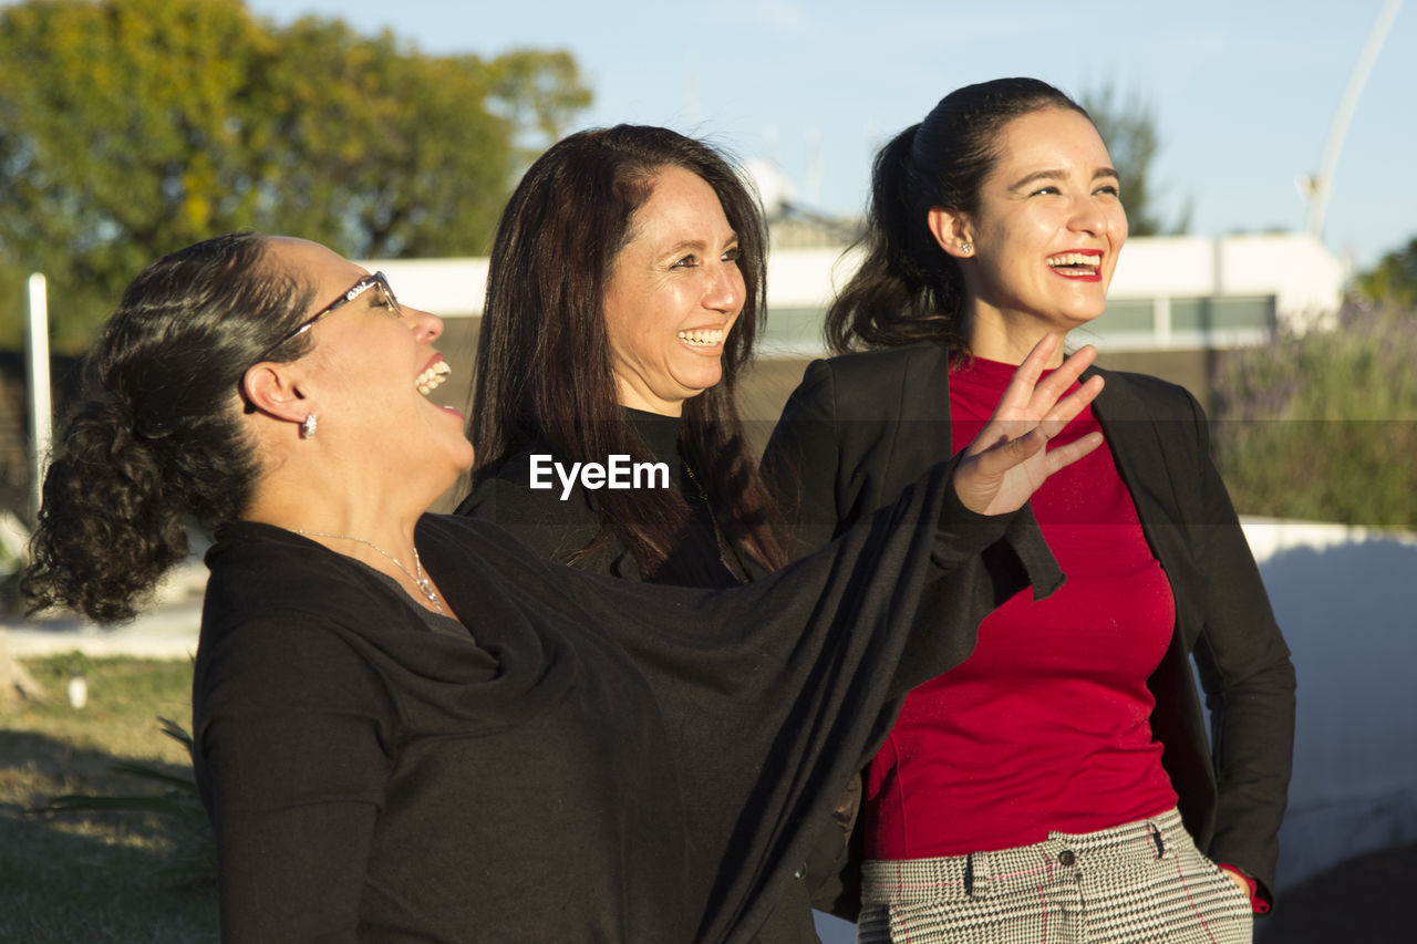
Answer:
[[[478,466],[459,512],[548,560],[631,580],[734,587],[779,568],[781,522],[735,397],[765,313],[767,249],[757,200],[703,142],[619,125],[547,150],[492,248],[469,410]],[[611,456],[656,475],[597,488],[551,472]],[[538,473],[553,488],[534,488]],[[837,894],[852,797],[789,863],[764,941],[816,941],[812,903]]]

